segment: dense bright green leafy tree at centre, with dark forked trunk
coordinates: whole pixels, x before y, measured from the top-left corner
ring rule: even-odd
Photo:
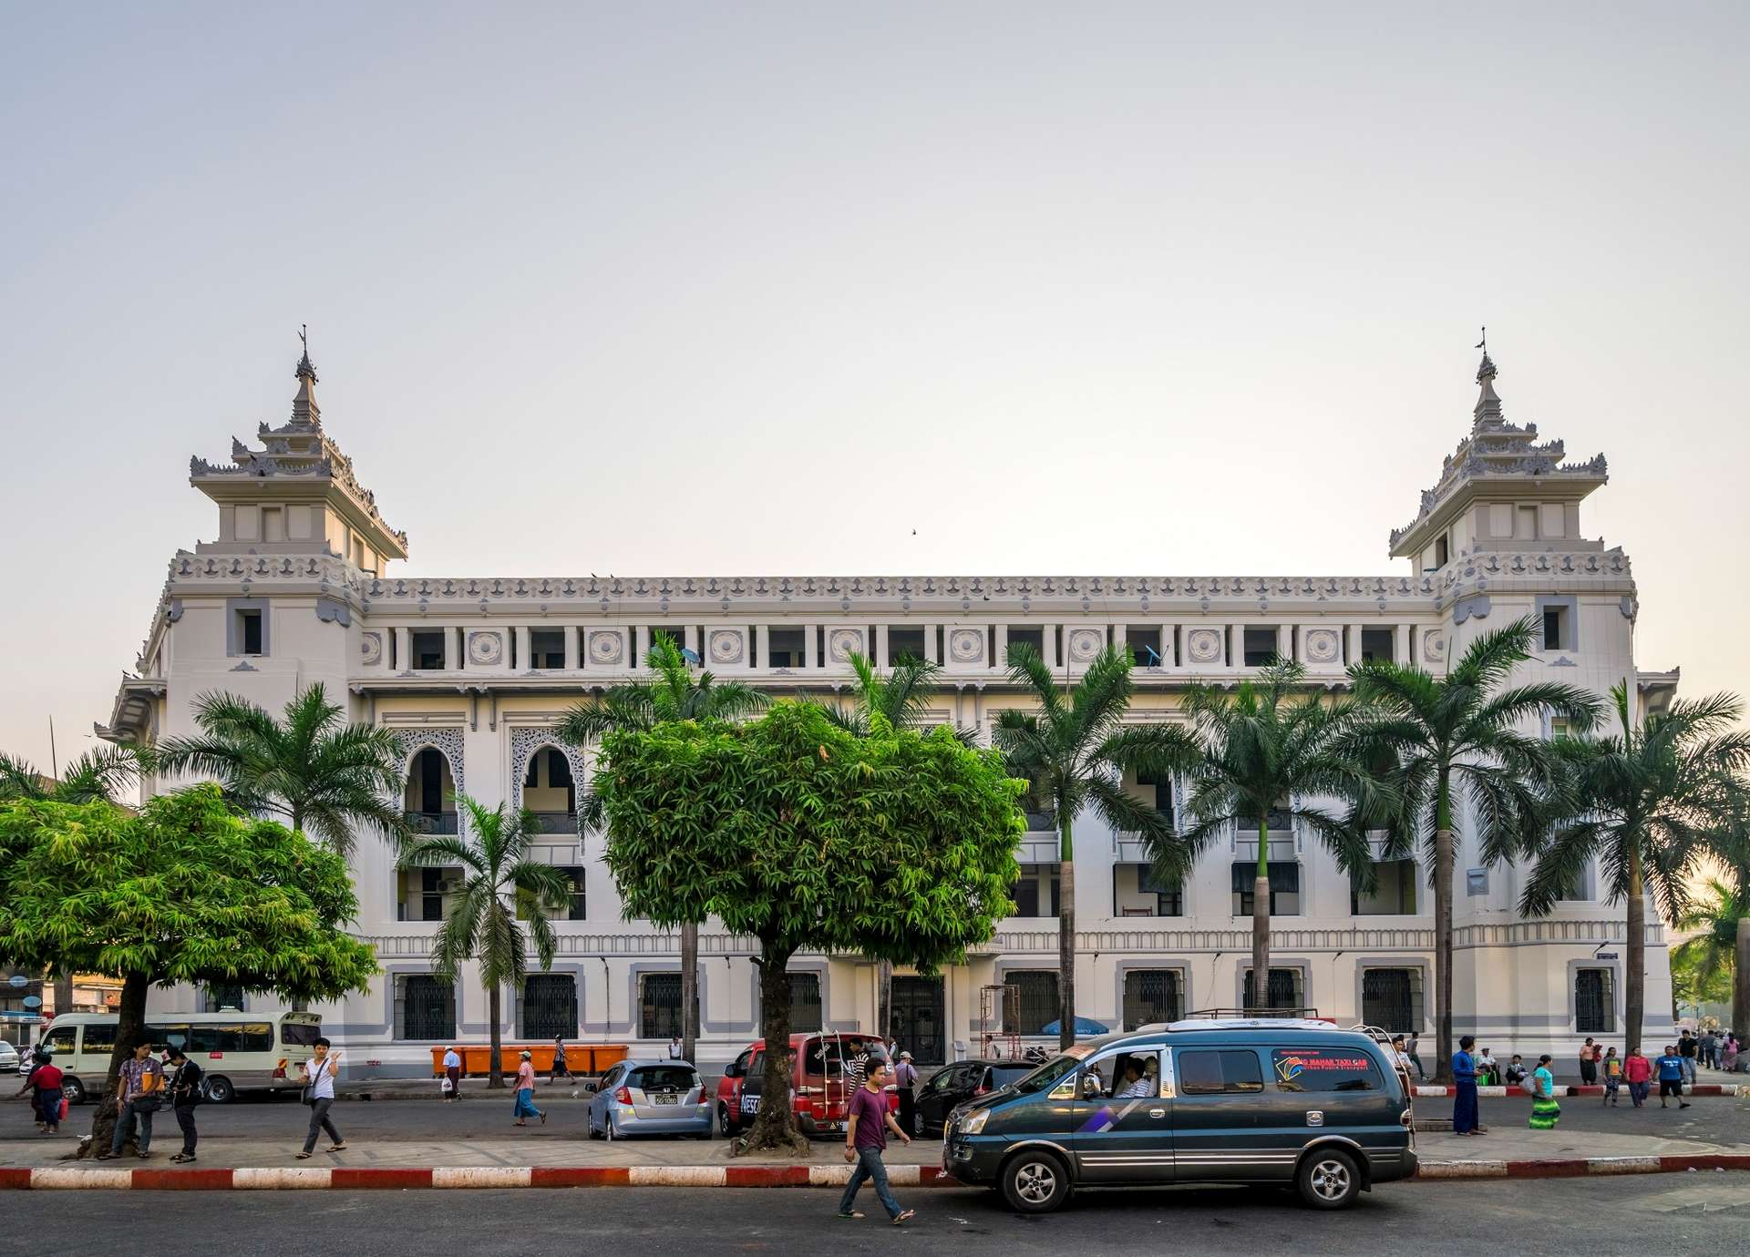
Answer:
[[[814,703],[746,724],[674,722],[602,740],[607,865],[628,916],[760,941],[765,1089],[752,1147],[791,1143],[789,960],[849,951],[961,960],[1012,907],[1026,788],[952,733],[877,719],[868,738]]]

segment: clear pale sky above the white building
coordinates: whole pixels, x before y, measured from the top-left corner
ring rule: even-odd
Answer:
[[[9,7],[0,748],[303,322],[441,575],[1396,572],[1488,323],[1642,666],[1750,687],[1750,9],[1232,9]]]

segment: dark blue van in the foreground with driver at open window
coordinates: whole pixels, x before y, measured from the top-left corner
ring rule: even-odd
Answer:
[[[1416,1135],[1372,1035],[1211,1017],[1076,1044],[966,1103],[948,1117],[942,1164],[1024,1213],[1083,1187],[1181,1182],[1293,1184],[1334,1210],[1414,1175]]]

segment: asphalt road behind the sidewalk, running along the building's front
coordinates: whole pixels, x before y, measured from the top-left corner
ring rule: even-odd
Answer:
[[[0,1096],[10,1089],[0,1084]],[[511,1122],[511,1093],[486,1093],[483,1084],[472,1086],[460,1103],[441,1100],[346,1100],[336,1105],[334,1121],[348,1140],[500,1140],[518,1136],[584,1138],[584,1101],[570,1100],[569,1087],[536,1091],[536,1103],[548,1110],[544,1128],[516,1131]],[[1598,1100],[1578,1096],[1561,1101],[1561,1135],[1598,1131],[1606,1135],[1652,1135],[1670,1140],[1698,1140],[1703,1143],[1743,1143],[1750,1140],[1750,1096],[1718,1096],[1696,1100],[1689,1108],[1661,1110],[1657,1098],[1648,1107],[1634,1110],[1624,1098],[1612,1108]],[[1426,1117],[1451,1115],[1451,1100],[1419,1100],[1416,1112]],[[1484,1100],[1482,1121],[1503,1126],[1521,1126],[1530,1114],[1524,1100]],[[201,1138],[292,1138],[303,1136],[308,1114],[296,1094],[280,1098],[240,1096],[229,1105],[203,1105],[200,1110]],[[91,1126],[91,1107],[72,1110],[63,1131],[86,1131]],[[166,1114],[161,1128],[175,1131]],[[30,1107],[0,1103],[0,1140],[35,1140]],[[1486,1156],[1477,1149],[1474,1156]]]

